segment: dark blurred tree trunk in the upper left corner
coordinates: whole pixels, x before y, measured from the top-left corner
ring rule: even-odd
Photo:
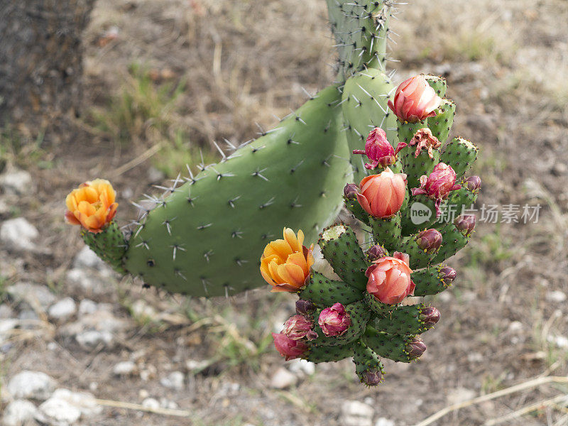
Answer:
[[[78,114],[82,31],[95,0],[0,0],[0,127]]]

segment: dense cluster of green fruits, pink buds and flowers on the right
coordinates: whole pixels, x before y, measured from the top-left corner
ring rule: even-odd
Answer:
[[[353,150],[366,156],[364,168],[374,174],[345,185],[344,202],[360,227],[370,229],[371,241],[361,244],[346,224],[320,234],[322,254],[340,280],[312,271],[313,245],[302,245],[302,231],[285,229],[284,239],[266,246],[263,278],[275,291],[300,297],[296,315],[273,334],[286,360],[353,357],[361,383],[376,386],[383,380],[381,358],[411,362],[424,354],[420,334],[437,324],[440,312],[409,297],[452,285],[456,271],[440,263],[467,244],[475,216],[454,219],[449,212],[471,207],[481,187],[479,177],[464,177],[476,147],[454,138],[443,148],[455,111],[439,96],[445,87],[440,77],[422,75],[400,84],[388,102],[398,118],[398,141],[375,128],[364,150]]]

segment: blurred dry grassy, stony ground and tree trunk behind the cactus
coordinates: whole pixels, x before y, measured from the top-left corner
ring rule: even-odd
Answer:
[[[293,297],[197,300],[117,280],[62,215],[72,187],[102,177],[126,224],[151,185],[217,160],[213,141],[256,137],[332,82],[325,2],[23,3],[0,1],[4,425],[411,426],[567,375],[567,1],[399,5],[394,82],[447,78],[483,188],[476,234],[449,261],[454,288],[430,297],[442,320],[425,356],[386,364],[371,389],[349,360],[283,362],[271,332]],[[528,223],[525,205],[540,206]],[[530,386],[428,424],[568,425],[566,394]]]

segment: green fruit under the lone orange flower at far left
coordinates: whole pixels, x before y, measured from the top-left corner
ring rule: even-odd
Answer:
[[[84,243],[87,244],[94,253],[97,253],[99,258],[102,258],[103,261],[112,266],[114,271],[126,273],[122,259],[128,243],[115,222],[111,222],[98,234],[93,234],[86,229],[81,229],[81,237]]]

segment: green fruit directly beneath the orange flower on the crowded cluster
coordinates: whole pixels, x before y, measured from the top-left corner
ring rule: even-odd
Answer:
[[[320,307],[331,306],[335,302],[347,305],[363,298],[361,290],[342,281],[329,280],[320,273],[312,273],[310,282],[297,295],[300,299],[311,300]]]

